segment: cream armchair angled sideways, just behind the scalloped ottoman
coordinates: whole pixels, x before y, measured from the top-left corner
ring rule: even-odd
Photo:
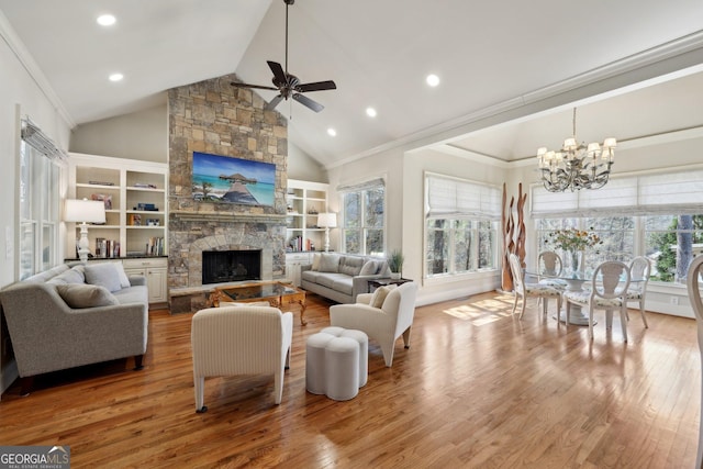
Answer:
[[[405,348],[410,348],[410,328],[415,316],[417,284],[403,283],[388,293],[381,308],[369,305],[371,293],[359,294],[354,304],[335,304],[330,308],[333,326],[364,331],[370,339],[378,342],[386,366],[393,365],[395,339],[403,336]]]

